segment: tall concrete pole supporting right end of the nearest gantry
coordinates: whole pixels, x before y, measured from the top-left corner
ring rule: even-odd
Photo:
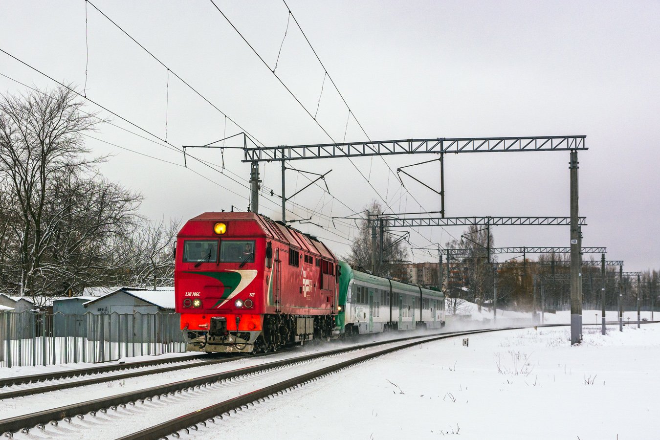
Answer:
[[[571,345],[582,340],[581,257],[578,201],[578,150],[570,152],[570,214],[571,214]]]

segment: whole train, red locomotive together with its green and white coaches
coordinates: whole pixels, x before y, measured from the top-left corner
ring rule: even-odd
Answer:
[[[442,292],[354,270],[316,237],[253,212],[205,212],[176,241],[188,350],[267,352],[314,338],[436,329]]]

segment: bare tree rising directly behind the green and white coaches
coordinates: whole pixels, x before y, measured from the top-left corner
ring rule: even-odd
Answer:
[[[382,214],[383,208],[381,205],[372,201],[366,207],[369,214]],[[387,276],[391,274],[393,268],[404,262],[408,258],[408,249],[406,249],[403,241],[390,231],[389,224],[383,222],[383,261],[380,261],[380,237],[376,239],[376,267],[374,267],[374,274],[380,276]],[[350,253],[344,258],[348,263],[360,270],[372,270],[372,228],[367,224],[367,220],[362,220],[359,223],[359,233],[355,241],[350,247]],[[378,229],[377,229],[378,231]]]

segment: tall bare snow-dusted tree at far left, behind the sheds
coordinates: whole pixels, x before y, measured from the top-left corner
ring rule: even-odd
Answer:
[[[103,179],[82,134],[98,119],[67,88],[0,99],[1,280],[21,296],[64,294],[112,274],[141,196]],[[92,281],[93,280],[93,281]]]

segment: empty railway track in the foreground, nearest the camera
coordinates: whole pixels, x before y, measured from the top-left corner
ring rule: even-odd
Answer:
[[[542,325],[538,327],[558,326],[561,325]],[[89,429],[91,423],[89,420],[92,418],[93,429],[102,429],[105,432],[106,428],[104,426],[108,424],[108,432],[113,433],[110,438],[116,438],[117,435],[123,435],[121,437],[123,439],[160,438],[178,431],[196,430],[199,426],[213,424],[218,418],[226,417],[231,412],[235,413],[244,408],[249,408],[249,406],[263,402],[276,394],[285,393],[335,371],[396,350],[455,336],[528,327],[479,329],[411,336],[269,361],[260,365],[192,377],[183,381],[0,420],[0,432],[4,432],[5,437],[10,438],[14,435],[17,437],[30,435],[30,429],[38,429],[38,431],[53,430],[51,431],[53,435],[57,435],[63,430],[71,433],[77,432],[78,429],[82,429],[82,431]],[[222,361],[229,360],[233,359]],[[178,367],[183,369],[183,365],[178,365]],[[151,373],[154,374],[154,370]],[[236,395],[237,393],[238,395]],[[217,403],[218,399],[221,402]],[[200,407],[200,403],[205,401],[211,402],[211,404]],[[174,414],[170,414],[173,411]],[[162,417],[154,417],[154,412],[162,413],[160,414]],[[149,420],[150,426],[145,427],[142,424],[135,427],[135,429],[131,428],[132,432],[128,433],[126,429],[123,431],[121,429],[116,430],[121,425],[125,425],[124,420],[135,415],[139,419]],[[46,432],[41,434],[42,436],[48,435]],[[83,432],[81,432],[81,435],[77,435],[80,438],[87,438],[88,436],[90,438],[100,437],[98,431],[96,431],[96,435],[92,433],[85,435]],[[175,437],[177,436],[178,433]]]

